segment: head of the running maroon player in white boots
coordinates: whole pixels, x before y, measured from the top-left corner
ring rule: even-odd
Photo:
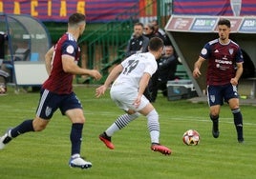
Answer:
[[[69,17],[68,26],[70,29],[79,30],[79,35],[81,35],[85,29],[85,15],[82,13],[73,13]]]

